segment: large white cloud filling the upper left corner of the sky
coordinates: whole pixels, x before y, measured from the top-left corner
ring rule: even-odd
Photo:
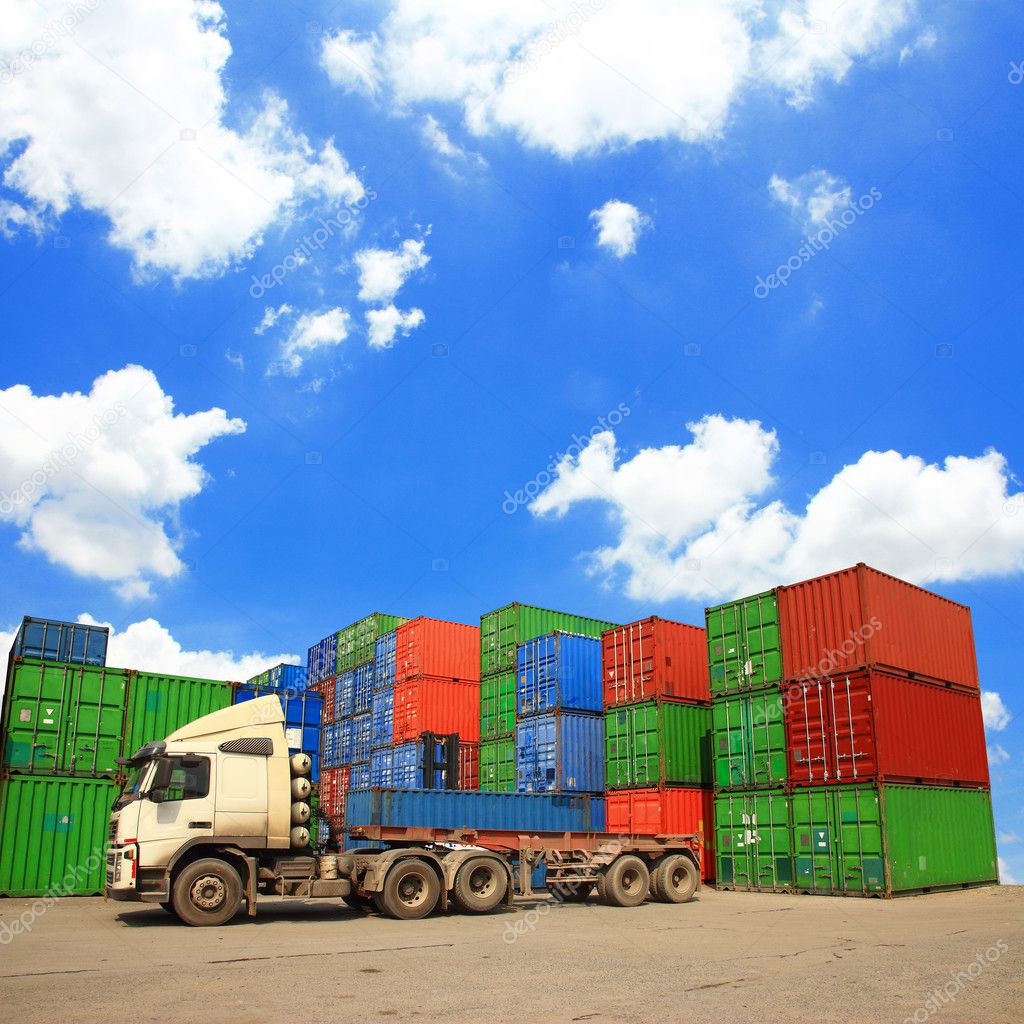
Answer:
[[[295,132],[280,97],[248,118],[228,111],[219,4],[74,6],[74,31],[0,88],[3,184],[25,211],[7,208],[8,224],[38,228],[78,206],[110,222],[137,275],[180,280],[244,260],[306,200],[362,197],[334,143]],[[6,4],[0,61],[17,68],[48,18],[34,0]]]

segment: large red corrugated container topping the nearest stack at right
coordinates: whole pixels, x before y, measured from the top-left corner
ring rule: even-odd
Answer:
[[[971,609],[863,563],[779,587],[778,611],[786,681],[872,665],[979,689]]]

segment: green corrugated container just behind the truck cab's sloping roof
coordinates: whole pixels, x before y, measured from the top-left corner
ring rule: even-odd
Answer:
[[[125,753],[164,739],[175,729],[231,705],[233,687],[216,679],[133,672],[128,681]]]

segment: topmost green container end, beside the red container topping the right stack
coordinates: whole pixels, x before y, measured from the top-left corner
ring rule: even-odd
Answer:
[[[712,694],[781,682],[782,651],[774,591],[709,608],[706,617]]]

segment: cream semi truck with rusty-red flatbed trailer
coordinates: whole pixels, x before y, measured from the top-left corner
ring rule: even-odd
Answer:
[[[701,837],[394,827],[351,822],[367,842],[310,836],[310,759],[290,754],[275,696],[214,712],[122,762],[109,899],[160,904],[185,925],[224,925],[261,896],[340,899],[400,920],[456,906],[485,913],[531,894],[537,863],[556,898],[684,903],[700,886]],[[376,844],[371,846],[370,844]],[[384,849],[381,844],[386,844]]]

